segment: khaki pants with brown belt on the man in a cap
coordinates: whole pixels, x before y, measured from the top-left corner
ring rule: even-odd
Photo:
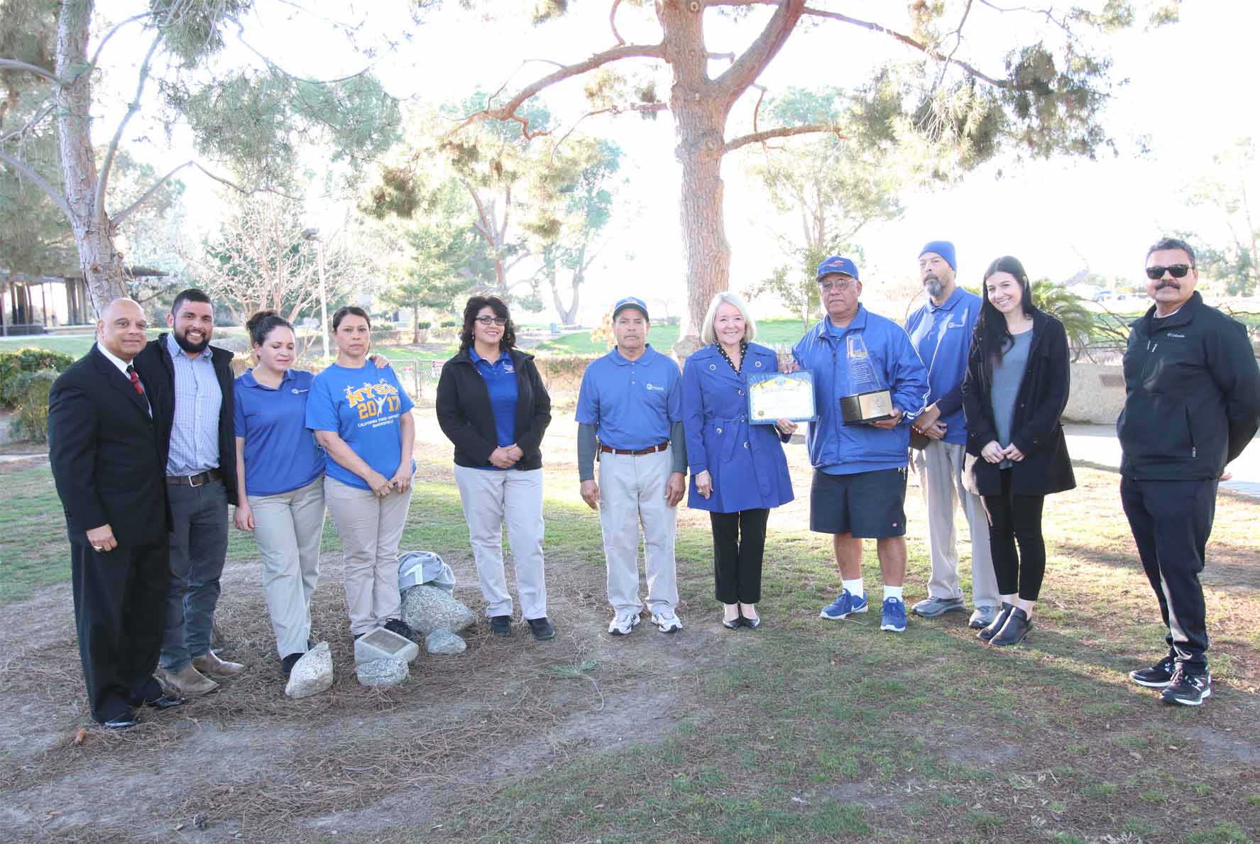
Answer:
[[[678,606],[674,530],[678,510],[665,503],[673,467],[667,448],[650,455],[600,455],[600,527],[609,566],[609,603],[614,611],[643,610],[639,598],[639,527],[643,525],[648,608]]]

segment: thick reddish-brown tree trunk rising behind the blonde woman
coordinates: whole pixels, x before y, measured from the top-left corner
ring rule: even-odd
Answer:
[[[664,0],[656,14],[664,30],[665,60],[673,71],[669,111],[674,115],[683,165],[682,227],[687,261],[687,310],[674,354],[682,359],[699,348],[699,329],[713,294],[731,276],[731,244],[722,214],[722,155],[731,102],[714,96],[704,49],[704,4]]]

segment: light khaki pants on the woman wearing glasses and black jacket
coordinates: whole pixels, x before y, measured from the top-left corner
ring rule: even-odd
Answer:
[[[503,525],[517,569],[522,619],[547,616],[547,579],[543,576],[543,470],[493,471],[455,467],[469,543],[476,561],[488,616],[510,616],[512,595],[503,568]]]

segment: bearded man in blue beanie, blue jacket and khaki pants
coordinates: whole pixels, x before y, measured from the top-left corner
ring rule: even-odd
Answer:
[[[949,241],[932,241],[919,253],[919,277],[927,301],[906,320],[906,331],[927,367],[927,408],[915,421],[915,431],[927,437],[917,451],[924,503],[927,508],[927,548],[932,576],[927,598],[912,607],[924,619],[965,612],[958,582],[958,537],[954,514],[963,505],[971,533],[970,625],[984,627],[997,616],[1000,600],[989,554],[989,523],[979,496],[963,486],[966,425],[963,418],[963,377],[971,334],[980,316],[980,297],[955,283],[958,258]]]

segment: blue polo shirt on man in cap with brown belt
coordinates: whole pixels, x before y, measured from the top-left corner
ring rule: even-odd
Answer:
[[[577,394],[578,425],[593,425],[610,448],[639,451],[669,440],[683,419],[682,373],[673,358],[648,344],[638,360],[615,348],[591,362]]]

